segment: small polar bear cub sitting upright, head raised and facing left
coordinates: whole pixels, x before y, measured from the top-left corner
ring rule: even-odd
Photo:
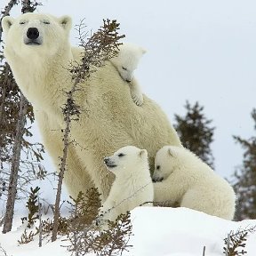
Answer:
[[[120,148],[104,158],[108,170],[116,176],[100,213],[104,220],[116,220],[121,213],[153,202],[154,188],[148,167],[148,152],[133,146]],[[152,205],[152,204],[147,204]]]

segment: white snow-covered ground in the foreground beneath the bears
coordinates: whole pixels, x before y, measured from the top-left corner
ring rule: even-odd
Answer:
[[[132,249],[124,256],[205,256],[224,255],[223,239],[230,230],[256,226],[256,220],[240,222],[221,220],[185,208],[139,207],[132,211]],[[17,218],[16,223],[20,220]],[[38,247],[38,240],[18,245],[24,229],[19,225],[8,234],[0,234],[0,244],[8,256],[69,256],[61,241],[46,243]],[[62,246],[61,246],[62,245]],[[256,234],[250,234],[246,243],[247,256],[256,255]],[[88,254],[93,255],[93,254]],[[0,250],[0,256],[5,256]]]

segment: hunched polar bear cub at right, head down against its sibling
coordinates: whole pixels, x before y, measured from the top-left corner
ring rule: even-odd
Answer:
[[[181,207],[233,219],[233,188],[194,153],[186,148],[164,146],[157,151],[155,161],[154,201],[171,206],[178,203]]]

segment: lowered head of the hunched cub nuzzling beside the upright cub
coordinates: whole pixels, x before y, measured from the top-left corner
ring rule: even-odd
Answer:
[[[155,171],[152,176],[154,182],[166,180],[177,168],[176,152],[169,146],[164,146],[156,153]]]

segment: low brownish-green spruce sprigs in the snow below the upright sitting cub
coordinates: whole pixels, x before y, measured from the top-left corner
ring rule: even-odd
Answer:
[[[128,251],[132,246],[128,244],[132,236],[130,212],[120,214],[116,221],[108,220],[108,230],[99,231],[97,215],[100,194],[97,189],[91,188],[86,195],[79,193],[75,204],[71,204],[73,218],[68,232],[71,243],[68,250],[75,252],[75,255],[94,252],[99,256],[122,255],[124,251]]]

